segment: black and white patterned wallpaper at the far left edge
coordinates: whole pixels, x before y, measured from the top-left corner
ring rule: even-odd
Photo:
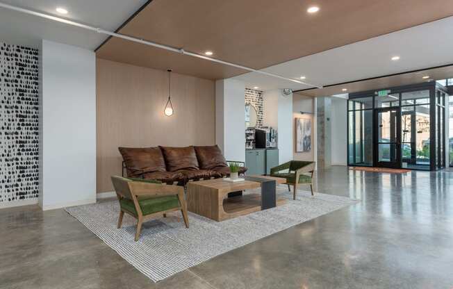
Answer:
[[[0,42],[0,205],[38,199],[38,49]]]

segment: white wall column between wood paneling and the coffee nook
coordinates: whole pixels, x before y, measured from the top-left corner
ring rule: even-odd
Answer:
[[[227,160],[245,161],[245,83],[215,81],[215,142]]]

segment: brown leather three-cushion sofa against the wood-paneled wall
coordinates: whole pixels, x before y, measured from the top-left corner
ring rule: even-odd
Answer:
[[[229,176],[230,170],[217,145],[204,147],[120,147],[126,174],[181,185],[199,179]],[[240,174],[247,171],[241,167]]]

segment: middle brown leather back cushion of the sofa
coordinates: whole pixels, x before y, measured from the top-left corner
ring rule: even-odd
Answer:
[[[195,149],[190,147],[160,147],[167,164],[167,171],[198,170]]]

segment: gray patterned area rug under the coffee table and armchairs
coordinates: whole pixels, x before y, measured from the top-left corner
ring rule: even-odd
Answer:
[[[292,194],[283,187],[278,188],[278,194],[288,199],[283,206],[224,222],[189,213],[190,228],[186,229],[179,212],[151,220],[143,224],[138,242],[133,240],[136,224],[133,217],[124,215],[122,229],[117,229],[117,201],[65,210],[156,282],[227,251],[357,202],[320,193],[312,197],[304,191],[299,191],[294,201]]]

